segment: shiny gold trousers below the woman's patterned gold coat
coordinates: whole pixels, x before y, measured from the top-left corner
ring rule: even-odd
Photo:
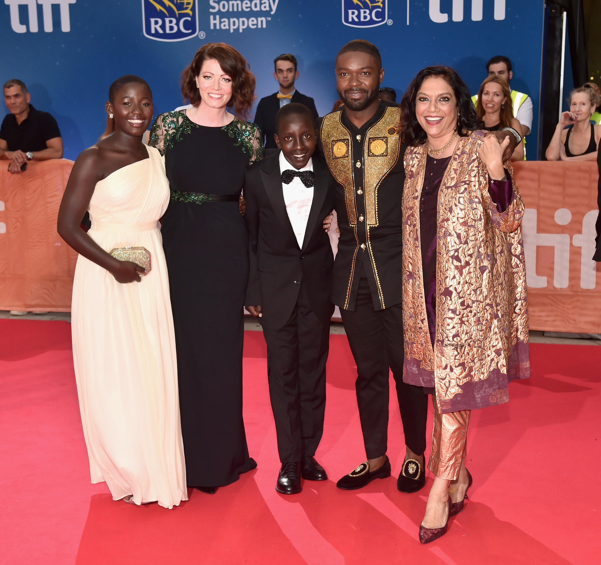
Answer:
[[[434,429],[428,468],[441,479],[457,480],[461,462],[465,458],[466,434],[472,411],[460,410],[441,414],[435,394],[432,394],[432,403]]]

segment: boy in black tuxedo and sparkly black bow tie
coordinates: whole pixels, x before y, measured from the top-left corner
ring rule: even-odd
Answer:
[[[269,394],[278,436],[276,490],[301,492],[301,477],[326,480],[314,459],[323,434],[326,360],[334,305],[334,255],[322,222],[334,208],[335,181],[314,154],[310,109],[291,103],[276,115],[277,154],[246,172],[251,274],[246,308],[267,342]]]

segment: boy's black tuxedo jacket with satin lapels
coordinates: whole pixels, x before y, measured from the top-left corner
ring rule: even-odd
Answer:
[[[291,167],[292,168],[292,167]],[[336,182],[322,156],[313,155],[313,203],[302,248],[294,235],[282,191],[279,151],[246,171],[245,219],[250,232],[246,306],[263,306],[263,327],[277,330],[290,319],[301,282],[318,318],[329,320],[334,254],[323,219],[334,209]]]

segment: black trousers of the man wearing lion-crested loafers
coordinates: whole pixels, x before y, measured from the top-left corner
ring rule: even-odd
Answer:
[[[403,308],[374,310],[367,277],[362,274],[355,311],[340,309],[357,364],[355,389],[367,459],[388,449],[389,369],[397,385],[405,444],[416,455],[426,450],[428,397],[423,387],[403,382]]]

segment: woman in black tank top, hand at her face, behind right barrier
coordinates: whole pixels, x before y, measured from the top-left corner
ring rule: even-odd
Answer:
[[[561,114],[545,157],[548,161],[596,161],[601,125],[590,120],[601,103],[599,86],[587,82],[573,89],[569,100],[570,109]]]

